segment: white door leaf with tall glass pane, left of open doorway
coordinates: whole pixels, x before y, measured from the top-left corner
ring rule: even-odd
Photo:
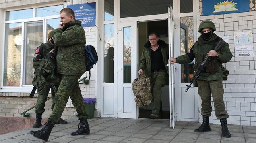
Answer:
[[[118,118],[137,118],[137,106],[132,92],[136,79],[136,21],[118,23]]]

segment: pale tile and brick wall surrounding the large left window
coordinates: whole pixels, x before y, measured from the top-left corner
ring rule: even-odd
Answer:
[[[13,8],[26,8],[27,6],[40,6],[41,4],[54,4],[58,2],[62,2],[62,0],[0,0],[0,10],[2,15],[4,15],[5,9],[13,9]],[[64,6],[72,5],[72,4],[83,4],[87,2],[95,2],[95,0],[66,0],[66,2],[63,2]],[[96,15],[97,15],[97,3],[96,3]],[[98,18],[96,16],[96,18]],[[4,23],[3,17],[0,18],[0,22]],[[97,25],[97,19],[96,19],[96,25]],[[95,49],[97,50],[97,41],[96,37],[97,35],[97,27],[86,27],[85,30],[85,36],[86,36],[86,45],[93,45]],[[0,30],[1,32],[1,38],[3,39],[3,30]],[[2,43],[2,42],[1,42]],[[0,47],[0,54],[2,55],[4,47]],[[0,62],[0,71],[2,71],[2,62]],[[96,70],[97,65],[91,69],[91,79],[89,81],[89,84],[80,84],[81,94],[83,95],[83,98],[96,98]],[[0,74],[2,76],[2,74]],[[89,79],[89,73],[86,72],[82,75],[82,77],[88,76]],[[2,79],[2,77],[0,77]],[[1,82],[0,82],[1,83]],[[32,87],[31,87],[32,89]],[[26,109],[29,109],[37,102],[37,96],[36,93],[34,98],[29,98],[29,93],[18,93],[18,92],[1,92],[0,91],[0,116],[14,116],[14,117],[21,117],[21,112],[25,111]],[[48,95],[50,97],[50,94]],[[48,100],[45,105],[45,113],[43,113],[43,117],[47,118],[50,116],[51,110],[51,104],[52,100]],[[62,114],[63,119],[68,119],[70,116],[76,115],[76,109],[73,108],[72,101],[69,99],[68,103],[66,105],[66,108],[64,109],[64,112]],[[97,111],[97,110],[96,110]],[[35,117],[34,109],[30,110],[28,113],[31,113],[31,117]],[[97,113],[96,113],[97,115]]]

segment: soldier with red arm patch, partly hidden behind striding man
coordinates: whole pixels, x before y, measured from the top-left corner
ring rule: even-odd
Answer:
[[[48,41],[46,43],[42,43],[37,49],[35,50],[35,55],[33,57],[33,67],[35,68],[35,73],[38,73],[37,70],[41,70],[39,68],[40,65],[40,59],[45,58],[47,54],[54,48],[54,41],[52,39],[53,37],[53,31],[50,31],[48,34]],[[40,72],[40,71],[39,71]],[[40,75],[39,75],[40,76]],[[51,88],[52,86],[48,81],[45,81],[42,84],[38,84],[39,82],[34,78],[32,81],[33,85],[37,85],[37,104],[35,105],[35,113],[36,113],[36,122],[33,124],[33,128],[39,128],[42,126],[41,120],[42,120],[42,113],[45,112],[45,102],[47,100],[47,96],[49,94],[49,91],[51,89],[52,91],[52,110],[54,107],[54,97],[55,92]],[[54,84],[56,88],[58,89],[58,84]],[[58,121],[59,124],[67,124],[68,122],[61,119]]]

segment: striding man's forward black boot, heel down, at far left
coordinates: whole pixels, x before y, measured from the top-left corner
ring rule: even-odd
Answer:
[[[52,131],[52,128],[54,127],[54,124],[52,122],[47,121],[45,123],[45,126],[39,130],[39,131],[30,131],[29,133],[33,135],[36,138],[43,139],[45,141],[48,141],[50,132]]]

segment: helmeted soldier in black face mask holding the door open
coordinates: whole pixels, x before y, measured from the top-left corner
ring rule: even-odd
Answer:
[[[211,116],[211,95],[213,97],[215,115],[217,119],[221,122],[221,131],[223,137],[230,137],[229,129],[227,128],[227,118],[229,115],[225,109],[225,104],[223,101],[223,71],[222,63],[229,62],[232,58],[232,54],[229,50],[229,44],[225,43],[219,51],[214,51],[217,43],[222,40],[213,32],[216,30],[215,25],[211,21],[202,21],[199,25],[198,32],[201,36],[198,41],[190,49],[190,52],[186,55],[179,56],[178,58],[170,58],[171,63],[190,63],[196,58],[196,63],[194,64],[194,70],[197,70],[198,66],[203,62],[205,56],[215,57],[211,60],[209,65],[211,68],[204,69],[197,79],[198,83],[198,94],[202,99],[202,109],[201,114],[203,116],[202,125],[195,130],[195,132],[206,132],[210,131],[209,116]],[[222,40],[223,41],[223,40]],[[224,41],[225,42],[225,41]]]

